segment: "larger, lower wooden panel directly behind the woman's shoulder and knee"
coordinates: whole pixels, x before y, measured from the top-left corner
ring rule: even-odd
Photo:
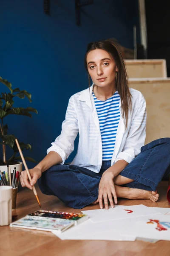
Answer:
[[[162,81],[130,81],[130,87],[142,92],[147,105],[145,144],[170,137],[170,79]]]

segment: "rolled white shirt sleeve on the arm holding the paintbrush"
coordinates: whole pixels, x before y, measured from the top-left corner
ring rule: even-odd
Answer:
[[[77,137],[78,131],[77,112],[73,96],[71,96],[68,102],[65,120],[62,122],[61,134],[51,143],[52,146],[47,149],[47,154],[50,151],[57,152],[62,158],[62,163],[60,164],[64,164],[65,160],[68,159],[74,150],[74,140]]]

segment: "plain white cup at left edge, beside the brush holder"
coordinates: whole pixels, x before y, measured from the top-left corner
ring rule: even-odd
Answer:
[[[0,186],[0,226],[12,222],[12,186]]]

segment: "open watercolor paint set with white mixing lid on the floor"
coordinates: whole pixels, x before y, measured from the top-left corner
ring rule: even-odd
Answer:
[[[35,230],[58,231],[59,233],[88,220],[88,215],[38,210],[32,212],[18,221],[10,224],[10,227],[20,227]]]

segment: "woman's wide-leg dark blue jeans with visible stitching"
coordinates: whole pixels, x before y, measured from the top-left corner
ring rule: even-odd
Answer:
[[[38,184],[45,195],[55,195],[67,206],[82,209],[98,198],[98,186],[111,161],[103,161],[99,173],[75,165],[56,165],[42,173]],[[124,186],[155,191],[170,174],[170,138],[154,140],[119,175],[133,179]]]

